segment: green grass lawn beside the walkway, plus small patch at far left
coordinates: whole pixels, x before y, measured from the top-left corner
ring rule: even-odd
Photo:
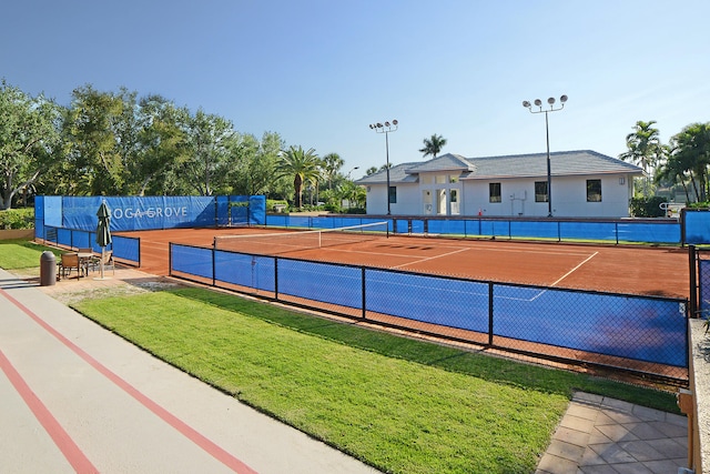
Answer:
[[[0,266],[23,248],[0,244]],[[23,265],[22,262],[19,265]],[[22,266],[18,266],[22,268]],[[239,400],[392,473],[530,473],[574,390],[671,394],[369,331],[204,289],[77,310]]]

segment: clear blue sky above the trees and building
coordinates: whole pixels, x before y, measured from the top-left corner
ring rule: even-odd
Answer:
[[[638,120],[666,142],[710,121],[710,2],[23,0],[0,14],[0,77],[69,104],[90,83],[160,93],[242,133],[385,163],[368,124],[397,119],[389,160],[544,152],[617,157]]]

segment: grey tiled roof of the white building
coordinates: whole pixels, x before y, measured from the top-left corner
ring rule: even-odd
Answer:
[[[550,153],[550,169],[554,177],[643,174],[643,170],[636,164],[591,150],[552,152]],[[458,154],[447,153],[425,162],[403,163],[392,167],[389,169],[389,182],[414,183],[418,181],[419,173],[444,171],[458,171],[462,180],[547,177],[547,153],[480,158],[464,158]],[[386,182],[387,175],[385,171],[356,181],[357,184]]]

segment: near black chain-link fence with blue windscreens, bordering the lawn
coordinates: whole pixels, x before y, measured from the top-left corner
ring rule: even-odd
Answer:
[[[170,274],[494,349],[688,381],[687,301],[170,244]]]

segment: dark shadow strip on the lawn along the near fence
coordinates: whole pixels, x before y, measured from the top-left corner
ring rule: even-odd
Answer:
[[[457,372],[489,382],[560,394],[568,399],[571,399],[575,391],[580,390],[658,410],[678,412],[674,396],[666,392],[414,340],[362,327],[352,322],[328,320],[232,294],[194,288],[172,290],[171,292],[181,297],[239,312],[351,347]]]

